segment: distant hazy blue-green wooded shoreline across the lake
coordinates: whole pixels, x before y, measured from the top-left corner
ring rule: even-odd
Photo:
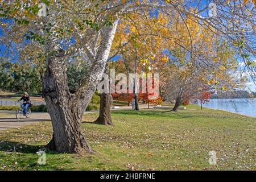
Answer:
[[[253,92],[254,97],[256,97],[256,93]],[[249,92],[245,90],[235,90],[229,92],[218,92],[217,94],[213,94],[211,98],[250,98]]]

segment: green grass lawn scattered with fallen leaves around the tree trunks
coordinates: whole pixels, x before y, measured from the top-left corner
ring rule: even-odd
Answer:
[[[49,142],[50,122],[0,131],[0,169],[4,170],[255,170],[256,119],[220,110],[112,111],[115,126],[93,123],[85,114],[82,129],[97,154],[36,151]],[[15,151],[14,152],[14,146]],[[208,163],[216,151],[217,165]]]

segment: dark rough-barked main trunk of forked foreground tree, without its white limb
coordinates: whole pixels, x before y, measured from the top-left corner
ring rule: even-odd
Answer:
[[[81,113],[79,113],[75,97],[69,93],[67,68],[65,67],[64,51],[54,42],[48,42],[48,51],[56,51],[47,58],[46,73],[43,78],[43,94],[49,115],[51,116],[53,137],[47,145],[57,152],[92,153],[82,134]],[[55,45],[57,45],[55,43]]]

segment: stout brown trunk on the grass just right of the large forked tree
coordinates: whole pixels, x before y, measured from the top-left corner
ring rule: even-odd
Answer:
[[[113,125],[111,119],[111,104],[113,102],[112,96],[110,93],[101,94],[101,103],[100,103],[100,115],[94,121],[94,123],[100,125]]]

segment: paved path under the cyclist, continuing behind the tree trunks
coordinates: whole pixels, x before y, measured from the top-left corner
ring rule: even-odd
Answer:
[[[139,105],[140,109],[147,109],[147,104]],[[152,106],[150,106],[152,108]],[[131,106],[122,106],[118,109],[113,110],[121,110],[121,109],[131,109]],[[85,113],[97,113],[98,110],[93,111],[85,111]],[[22,126],[31,125],[32,123],[36,122],[49,122],[51,118],[48,113],[42,112],[32,112],[31,118],[26,118],[22,116],[20,119],[16,119],[15,111],[6,111],[0,110],[0,131],[1,130],[8,130],[8,129],[16,129]]]

